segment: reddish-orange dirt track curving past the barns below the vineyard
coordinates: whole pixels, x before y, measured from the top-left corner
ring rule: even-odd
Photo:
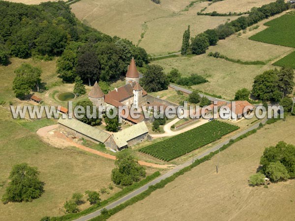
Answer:
[[[116,156],[111,154],[103,153],[98,150],[94,150],[82,144],[76,143],[71,138],[67,138],[64,134],[60,133],[58,130],[58,124],[50,125],[47,127],[42,127],[37,131],[37,135],[40,136],[45,142],[49,143],[50,145],[57,146],[59,148],[64,148],[67,146],[75,146],[81,150],[87,151],[92,154],[96,154],[101,157],[105,157],[111,160],[116,160]],[[138,163],[142,166],[151,166],[155,168],[169,168],[175,165],[159,165],[159,164],[152,164],[144,161],[138,161]]]

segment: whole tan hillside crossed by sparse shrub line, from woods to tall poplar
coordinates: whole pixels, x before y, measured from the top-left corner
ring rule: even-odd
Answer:
[[[163,0],[161,5],[151,0],[81,0],[71,8],[77,18],[93,28],[127,38],[150,55],[166,55],[180,50],[182,35],[188,25],[194,36],[228,19],[236,19],[197,16],[197,12],[190,14],[194,7],[183,11],[189,3],[188,0]]]

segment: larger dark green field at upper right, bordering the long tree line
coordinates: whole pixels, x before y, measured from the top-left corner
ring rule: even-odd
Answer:
[[[269,28],[251,36],[251,40],[295,48],[294,15],[286,14],[264,25],[269,26]]]

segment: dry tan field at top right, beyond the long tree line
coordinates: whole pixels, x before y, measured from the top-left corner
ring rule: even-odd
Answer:
[[[212,12],[217,11],[219,13],[229,13],[229,12],[246,12],[250,11],[253,7],[261,7],[264,4],[274,2],[275,0],[223,0],[217,1],[204,11]]]

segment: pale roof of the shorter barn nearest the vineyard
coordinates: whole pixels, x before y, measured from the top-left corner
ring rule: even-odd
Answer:
[[[113,138],[119,148],[126,146],[127,141],[137,138],[145,133],[148,133],[148,127],[146,123],[140,122],[131,127],[128,127],[118,133],[113,134]]]

